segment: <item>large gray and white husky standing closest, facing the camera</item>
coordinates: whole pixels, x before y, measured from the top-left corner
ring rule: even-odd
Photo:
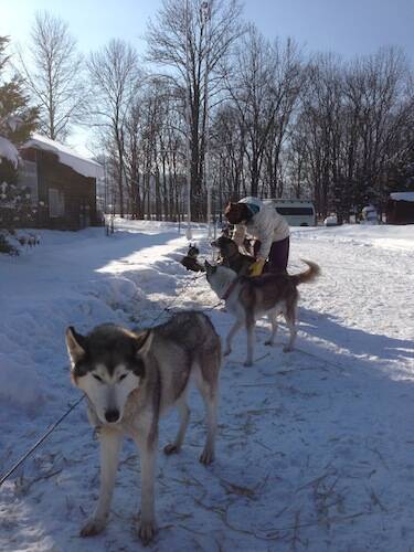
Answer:
[[[124,435],[140,450],[141,520],[139,538],[148,543],[157,531],[155,519],[155,471],[158,421],[177,405],[180,427],[166,454],[181,448],[190,411],[185,395],[190,376],[204,400],[208,436],[200,456],[202,464],[214,459],[217,411],[217,380],[221,343],[210,319],[195,311],[174,315],[168,322],[132,332],[103,325],[81,336],[66,330],[74,384],[85,392],[88,417],[100,440],[100,490],[94,514],[82,537],[99,533],[106,526],[113,497],[118,453]]]

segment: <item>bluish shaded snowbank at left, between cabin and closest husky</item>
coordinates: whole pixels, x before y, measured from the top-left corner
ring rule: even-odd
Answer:
[[[176,289],[176,278],[168,276],[171,258],[164,242],[178,234],[176,229],[164,227],[152,240],[129,232],[106,237],[103,229],[39,231],[41,245],[35,250],[13,259],[0,256],[0,346],[7,343],[8,350],[7,358],[0,358],[0,399],[31,410],[47,374],[47,384],[55,388],[52,400],[62,404],[71,391],[68,373],[62,379],[61,371],[67,367],[67,326],[87,332],[104,321],[130,325],[138,312],[144,320],[158,312],[158,304],[141,286],[150,283],[160,298],[166,287],[171,293]],[[148,259],[153,261],[153,255],[157,268],[149,269]],[[127,270],[128,266],[134,269]],[[173,274],[177,276],[176,270]],[[22,388],[24,373],[26,386]],[[33,395],[26,388],[33,389]]]

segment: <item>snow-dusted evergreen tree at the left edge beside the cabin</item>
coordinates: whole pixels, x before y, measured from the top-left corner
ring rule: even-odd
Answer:
[[[15,148],[34,129],[38,109],[28,105],[18,77],[3,79],[9,61],[4,52],[8,42],[0,36],[0,253],[19,254],[19,245],[34,245],[35,238],[15,233],[17,227],[32,225],[34,221],[30,189],[18,183]]]

